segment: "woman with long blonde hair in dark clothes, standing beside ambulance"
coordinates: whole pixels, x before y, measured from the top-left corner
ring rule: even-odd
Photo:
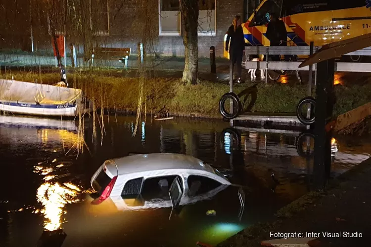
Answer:
[[[233,78],[233,67],[237,63],[237,82],[241,82],[242,74],[242,56],[245,49],[245,37],[243,36],[241,16],[236,15],[233,19],[232,26],[228,29],[226,51],[230,53],[230,77]]]

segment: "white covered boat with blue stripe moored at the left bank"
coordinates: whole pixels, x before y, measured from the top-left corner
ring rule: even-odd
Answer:
[[[0,79],[0,112],[74,117],[91,112],[81,89]]]

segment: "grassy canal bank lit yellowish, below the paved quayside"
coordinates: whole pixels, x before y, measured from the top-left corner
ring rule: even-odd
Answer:
[[[1,74],[0,78],[14,80],[56,83],[59,74],[37,74],[17,72]],[[135,111],[138,105],[139,79],[117,78],[104,75],[69,75],[69,82],[84,90],[93,99],[96,106]],[[249,89],[246,89],[249,88]],[[281,83],[237,84],[236,93],[248,91],[248,97],[256,96],[251,112],[294,113],[298,101],[306,96],[306,85],[289,85]],[[177,79],[146,79],[147,113],[153,114],[166,109],[173,115],[220,118],[218,102],[229,91],[227,82],[201,81],[197,85],[184,85]],[[371,84],[335,85],[336,105],[334,115],[339,115],[371,101]]]

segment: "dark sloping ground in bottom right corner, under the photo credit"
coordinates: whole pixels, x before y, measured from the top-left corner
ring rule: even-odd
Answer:
[[[275,222],[260,226],[259,231],[245,229],[218,247],[370,246],[370,177],[371,159],[368,159],[331,181],[325,195],[306,202],[308,205],[304,210],[288,218],[277,218]],[[301,200],[298,199],[298,202]],[[295,237],[298,233],[302,234],[299,238]],[[292,234],[294,238],[284,239],[278,237],[279,234]]]

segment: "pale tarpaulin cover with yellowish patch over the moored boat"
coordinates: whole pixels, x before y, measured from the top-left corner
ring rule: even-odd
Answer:
[[[0,79],[0,101],[41,105],[80,103],[81,89]]]

